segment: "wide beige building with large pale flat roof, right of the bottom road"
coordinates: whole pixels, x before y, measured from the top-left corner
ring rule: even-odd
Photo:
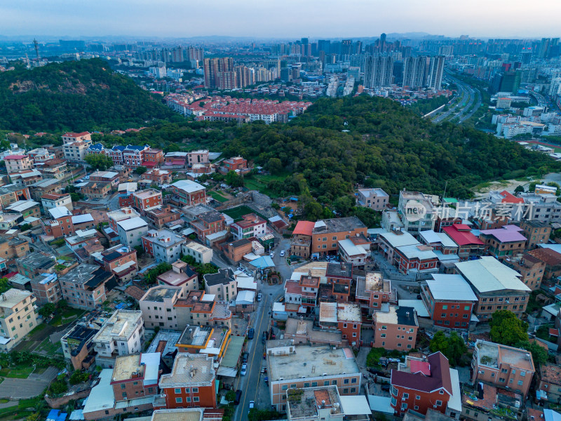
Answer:
[[[286,345],[267,347],[271,405],[287,410],[287,390],[336,386],[341,396],[360,394],[362,374],[350,348]]]

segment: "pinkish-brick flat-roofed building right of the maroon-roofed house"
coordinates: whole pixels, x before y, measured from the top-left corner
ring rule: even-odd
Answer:
[[[473,352],[472,382],[485,382],[495,387],[528,395],[536,368],[532,354],[525,349],[478,339]]]

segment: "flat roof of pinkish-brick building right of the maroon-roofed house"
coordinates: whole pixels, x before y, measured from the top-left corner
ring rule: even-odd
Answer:
[[[475,343],[475,347],[479,365],[499,368],[501,364],[506,363],[520,370],[534,371],[535,369],[532,354],[525,349],[507,347],[480,339]]]

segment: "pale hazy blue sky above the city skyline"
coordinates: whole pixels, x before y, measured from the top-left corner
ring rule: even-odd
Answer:
[[[0,35],[560,36],[561,0],[0,0]]]

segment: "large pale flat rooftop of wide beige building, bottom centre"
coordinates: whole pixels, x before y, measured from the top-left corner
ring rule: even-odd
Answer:
[[[321,377],[342,373],[360,376],[353,352],[350,348],[332,349],[321,347],[296,347],[295,354],[269,354],[269,380],[275,382],[304,377]]]

